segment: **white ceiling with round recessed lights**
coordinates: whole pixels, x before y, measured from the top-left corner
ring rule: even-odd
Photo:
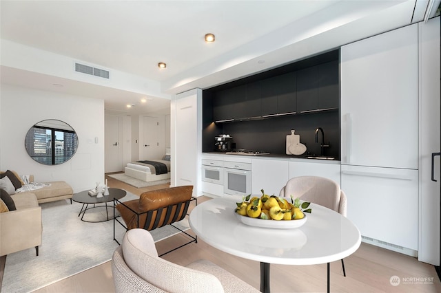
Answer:
[[[176,94],[212,87],[422,21],[428,5],[429,0],[2,0],[0,36],[104,69],[156,80],[163,93]],[[203,41],[207,32],[216,35],[215,43]],[[167,63],[167,69],[158,69],[158,62]],[[99,96],[107,110],[126,113],[158,111],[170,103],[152,96],[146,103],[149,106],[127,110],[127,98],[121,100],[121,94],[132,95],[134,100],[142,95],[4,66],[1,82]],[[56,82],[63,87],[49,86]]]

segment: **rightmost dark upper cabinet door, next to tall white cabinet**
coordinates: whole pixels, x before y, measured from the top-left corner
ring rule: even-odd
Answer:
[[[318,65],[318,109],[338,108],[338,82],[338,61]]]

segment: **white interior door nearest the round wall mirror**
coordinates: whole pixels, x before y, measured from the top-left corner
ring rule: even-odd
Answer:
[[[123,171],[123,118],[120,116],[105,116],[105,173]]]

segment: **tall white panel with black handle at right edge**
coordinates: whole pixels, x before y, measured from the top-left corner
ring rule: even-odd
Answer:
[[[420,198],[418,260],[440,265],[440,159],[431,181],[431,153],[440,146],[440,17],[419,25]]]

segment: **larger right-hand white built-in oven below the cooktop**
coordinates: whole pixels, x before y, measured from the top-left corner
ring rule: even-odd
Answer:
[[[223,192],[227,195],[251,194],[251,164],[224,162]]]

